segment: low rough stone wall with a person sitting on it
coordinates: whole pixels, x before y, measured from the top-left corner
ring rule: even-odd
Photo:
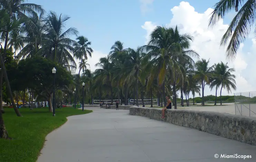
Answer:
[[[161,110],[133,106],[130,107],[130,115],[161,120],[256,145],[256,118],[254,117],[209,111],[169,109],[165,111],[165,118],[161,119]]]

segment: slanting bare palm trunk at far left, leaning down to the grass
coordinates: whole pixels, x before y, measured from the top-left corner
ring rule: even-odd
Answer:
[[[5,58],[5,55],[6,55],[6,46],[7,46],[7,43],[8,43],[8,32],[7,32],[7,36],[6,36],[6,41],[5,41],[5,49],[3,50],[3,56]],[[1,71],[3,71],[3,75],[4,75],[4,80],[6,82],[6,87],[7,87],[7,92],[9,94],[9,97],[10,97],[10,100],[11,100],[11,103],[12,103],[12,106],[13,106],[13,109],[14,111],[16,112],[17,116],[18,117],[21,117],[21,114],[19,112],[19,110],[17,109],[16,105],[15,105],[15,102],[14,102],[14,99],[13,99],[13,96],[12,96],[12,91],[11,91],[11,87],[10,87],[10,82],[8,80],[8,75],[7,75],[7,72],[6,72],[6,68],[5,68],[5,65],[4,65],[4,61],[3,61],[3,57],[2,57],[2,52],[0,52],[0,63],[1,63]],[[3,76],[2,75],[2,76]],[[2,77],[0,78],[0,80],[2,80]],[[2,84],[2,82],[1,82]],[[0,91],[2,91],[2,89],[0,89]],[[2,104],[2,103],[0,103]]]

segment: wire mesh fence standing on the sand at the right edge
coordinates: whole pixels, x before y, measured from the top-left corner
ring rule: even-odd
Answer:
[[[234,93],[235,114],[256,117],[256,92]]]

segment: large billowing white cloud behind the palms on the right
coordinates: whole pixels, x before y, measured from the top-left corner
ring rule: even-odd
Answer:
[[[175,6],[171,9],[173,14],[170,22],[167,22],[167,26],[178,26],[181,33],[190,33],[194,37],[191,43],[191,49],[196,50],[200,58],[210,59],[210,64],[218,63],[220,61],[227,62],[225,49],[220,48],[220,40],[228,28],[228,24],[224,24],[223,20],[219,21],[214,28],[208,28],[209,15],[213,9],[208,8],[203,13],[198,13],[195,8],[190,6],[188,2],[180,2],[179,6]],[[149,39],[150,32],[155,28],[153,22],[147,21],[142,26],[146,30],[146,40]],[[255,91],[256,86],[254,84],[256,76],[254,69],[256,68],[256,39],[252,39],[253,47],[248,53],[242,51],[244,44],[240,45],[240,49],[237,52],[237,57],[234,62],[228,62],[230,68],[235,68],[236,72],[236,86],[237,90],[232,90],[229,95],[234,95],[234,92],[247,92]],[[197,60],[195,60],[197,61]],[[218,90],[218,95],[220,90]],[[205,88],[205,95],[215,94],[214,91],[210,91],[209,87]],[[222,90],[222,95],[228,95],[226,90]]]

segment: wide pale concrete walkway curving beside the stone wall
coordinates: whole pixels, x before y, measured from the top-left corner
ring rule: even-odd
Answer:
[[[68,117],[47,135],[38,162],[254,162],[256,146],[206,132],[99,108]],[[219,154],[219,158],[214,158]],[[220,154],[251,159],[220,159]]]

